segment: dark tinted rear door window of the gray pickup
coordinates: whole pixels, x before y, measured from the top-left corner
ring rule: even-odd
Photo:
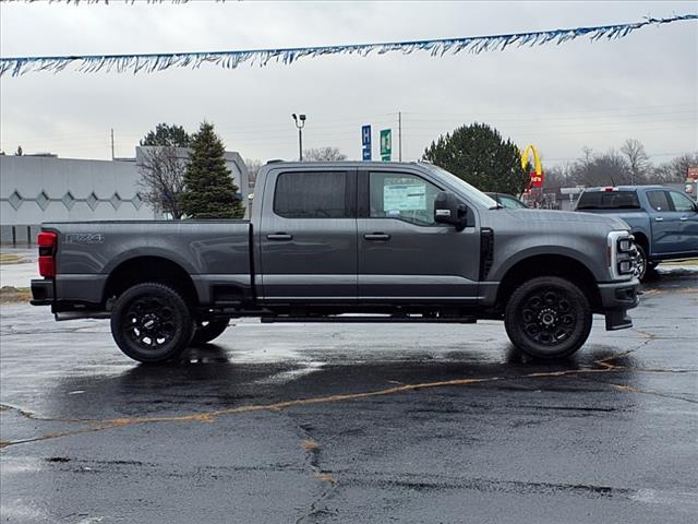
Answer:
[[[274,213],[285,218],[350,218],[346,171],[282,172],[276,180]]]

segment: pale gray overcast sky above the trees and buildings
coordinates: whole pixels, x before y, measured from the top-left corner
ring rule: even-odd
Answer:
[[[0,4],[3,57],[233,50],[542,31],[695,13],[698,2],[237,2]],[[292,112],[305,147],[361,158],[360,127],[394,130],[417,159],[441,133],[473,121],[544,165],[581,148],[640,140],[654,163],[698,151],[698,23],[647,26],[619,40],[507,48],[432,58],[426,52],[301,59],[291,66],[203,66],[152,74],[58,73],[0,80],[0,148],[61,157],[117,156],[158,122],[194,131],[212,121],[244,158],[292,159]],[[394,155],[397,156],[397,155]]]

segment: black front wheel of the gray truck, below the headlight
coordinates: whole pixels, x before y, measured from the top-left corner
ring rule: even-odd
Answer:
[[[571,282],[540,276],[514,291],[504,312],[504,326],[522,353],[542,359],[562,358],[587,342],[591,307]]]

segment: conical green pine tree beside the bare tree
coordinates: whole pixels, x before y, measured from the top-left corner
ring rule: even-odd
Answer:
[[[240,218],[244,206],[238,196],[226,150],[212,123],[203,122],[192,136],[191,154],[184,174],[181,205],[189,218]]]

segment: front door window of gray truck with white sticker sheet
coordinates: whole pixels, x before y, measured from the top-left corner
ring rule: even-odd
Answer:
[[[421,177],[402,172],[371,172],[369,196],[372,218],[397,218],[432,226],[434,199],[441,190]]]

